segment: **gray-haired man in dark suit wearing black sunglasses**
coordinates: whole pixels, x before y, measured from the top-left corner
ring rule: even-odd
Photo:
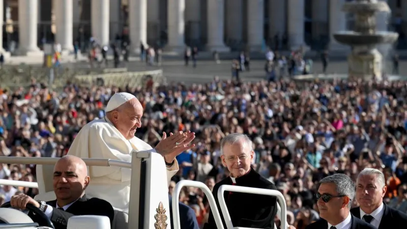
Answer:
[[[355,196],[351,178],[335,174],[322,179],[319,184],[316,198],[322,219],[309,224],[306,229],[375,229],[350,212]]]

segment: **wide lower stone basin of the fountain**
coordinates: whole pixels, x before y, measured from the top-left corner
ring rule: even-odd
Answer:
[[[384,43],[394,43],[398,38],[398,33],[376,32],[375,34],[361,34],[353,31],[343,31],[334,34],[335,40],[339,43],[357,46],[370,46]]]

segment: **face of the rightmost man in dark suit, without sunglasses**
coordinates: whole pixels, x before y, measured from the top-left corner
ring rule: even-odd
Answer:
[[[383,202],[386,190],[386,186],[379,185],[376,175],[363,175],[356,182],[356,200],[362,208],[378,207]]]

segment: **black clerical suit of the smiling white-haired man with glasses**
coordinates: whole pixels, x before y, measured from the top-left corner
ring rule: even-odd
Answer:
[[[276,186],[261,177],[254,169],[250,169],[247,174],[236,178],[234,184],[230,177],[223,179],[213,188],[213,196],[218,207],[223,226],[226,224],[223,219],[222,211],[219,206],[218,189],[221,185],[237,185],[251,188],[264,188],[276,190]],[[267,195],[257,195],[241,192],[224,192],[227,210],[229,212],[232,224],[235,227],[254,227],[254,228],[274,228],[274,216],[277,213],[277,198]],[[212,211],[209,213],[208,223],[205,223],[203,229],[217,228]]]

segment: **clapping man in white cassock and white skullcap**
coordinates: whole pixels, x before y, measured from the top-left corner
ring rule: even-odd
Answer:
[[[131,152],[144,151],[161,154],[167,167],[167,184],[179,167],[176,156],[189,150],[195,138],[192,132],[163,133],[162,139],[153,149],[134,136],[141,126],[143,107],[129,93],[114,94],[105,109],[105,117],[86,124],[77,134],[68,155],[80,158],[105,158],[131,162]],[[131,169],[116,166],[91,166],[89,176],[92,184],[86,194],[108,201],[114,209],[128,212],[130,198]],[[103,191],[101,191],[103,190]]]

